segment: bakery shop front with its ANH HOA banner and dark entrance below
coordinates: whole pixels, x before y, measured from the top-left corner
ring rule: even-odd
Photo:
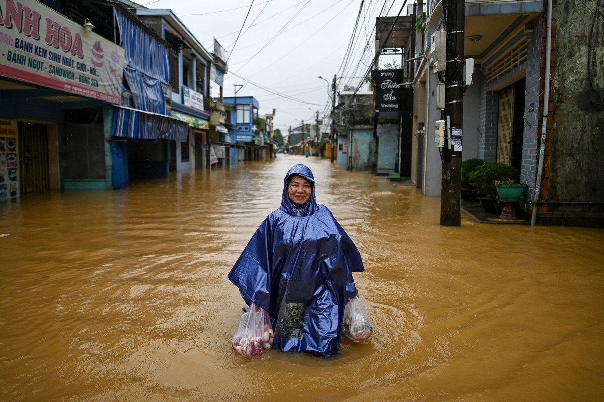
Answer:
[[[0,24],[0,198],[111,188],[103,108],[121,100],[124,49],[40,2],[18,5]],[[25,24],[21,10],[38,17]]]

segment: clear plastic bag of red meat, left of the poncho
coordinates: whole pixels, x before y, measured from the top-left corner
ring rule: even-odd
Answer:
[[[274,334],[268,312],[252,302],[248,311],[241,315],[231,344],[242,356],[260,357],[264,349],[272,347]]]

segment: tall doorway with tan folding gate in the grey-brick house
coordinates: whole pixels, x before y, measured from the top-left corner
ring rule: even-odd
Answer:
[[[522,169],[526,78],[499,92],[497,162]]]

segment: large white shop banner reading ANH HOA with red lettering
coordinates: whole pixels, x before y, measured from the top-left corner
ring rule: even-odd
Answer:
[[[36,0],[0,0],[0,75],[112,103],[124,49]]]

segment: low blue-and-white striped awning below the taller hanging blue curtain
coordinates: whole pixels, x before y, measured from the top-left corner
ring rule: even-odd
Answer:
[[[114,105],[111,135],[133,140],[158,138],[186,142],[188,124],[166,115],[159,115],[123,105]]]

